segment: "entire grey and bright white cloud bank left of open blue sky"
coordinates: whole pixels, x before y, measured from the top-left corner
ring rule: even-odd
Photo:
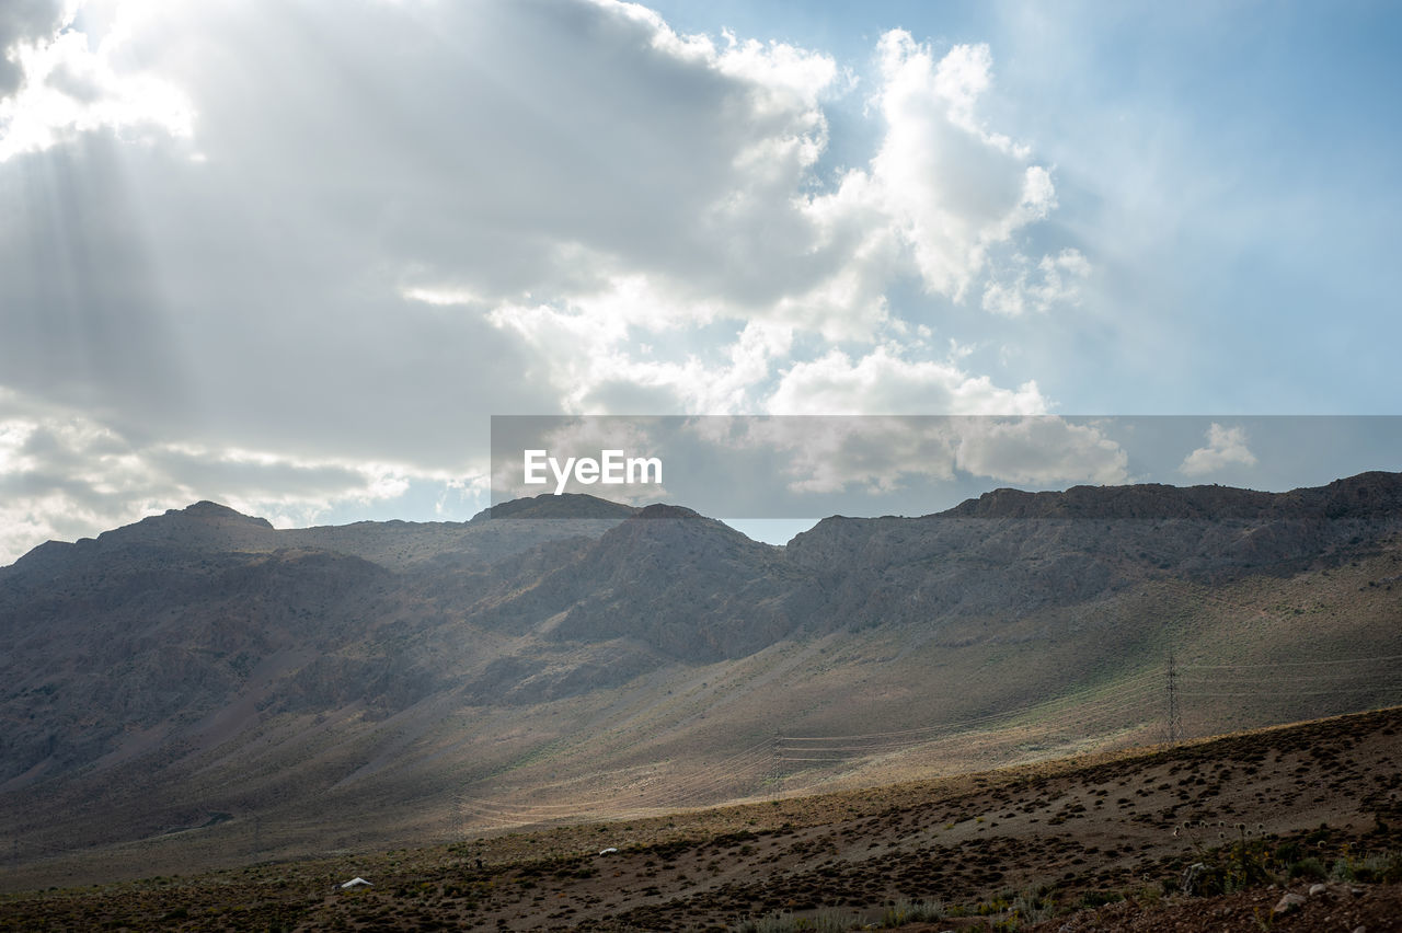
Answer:
[[[28,539],[450,490],[489,413],[1049,408],[930,350],[1056,203],[988,126],[986,46],[882,38],[847,140],[875,156],[829,178],[830,55],[635,4],[24,8],[0,378],[32,405],[0,485]],[[1074,290],[1059,255],[1029,289]]]

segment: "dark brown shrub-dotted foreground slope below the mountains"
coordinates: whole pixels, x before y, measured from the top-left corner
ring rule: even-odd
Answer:
[[[1396,930],[1399,730],[1389,709],[937,782],[57,887],[0,898],[0,929]],[[370,885],[341,887],[356,877]]]

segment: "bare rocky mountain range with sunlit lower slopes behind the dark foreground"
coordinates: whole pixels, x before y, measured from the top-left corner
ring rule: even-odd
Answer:
[[[1374,709],[1399,532],[1398,474],[998,490],[784,548],[589,497],[199,503],[0,569],[0,831],[13,869],[132,877]]]

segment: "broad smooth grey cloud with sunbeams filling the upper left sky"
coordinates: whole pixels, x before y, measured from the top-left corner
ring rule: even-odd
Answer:
[[[133,38],[123,55],[189,95],[195,139],[102,130],[4,165],[0,210],[25,219],[0,231],[6,384],[123,436],[443,465],[474,416],[558,395],[486,305],[402,289],[548,300],[618,269],[747,287],[758,259],[715,249],[782,231],[707,245],[704,214],[794,105],[758,112],[746,81],[594,4],[436,13],[272,25],[202,4]]]

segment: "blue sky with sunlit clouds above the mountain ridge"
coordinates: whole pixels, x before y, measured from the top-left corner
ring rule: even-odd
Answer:
[[[1165,482],[1398,469],[1244,419],[1402,415],[1399,39],[1347,1],[0,4],[0,562],[202,499],[463,520],[492,416],[1200,416]],[[1071,429],[953,468],[1143,478]]]

